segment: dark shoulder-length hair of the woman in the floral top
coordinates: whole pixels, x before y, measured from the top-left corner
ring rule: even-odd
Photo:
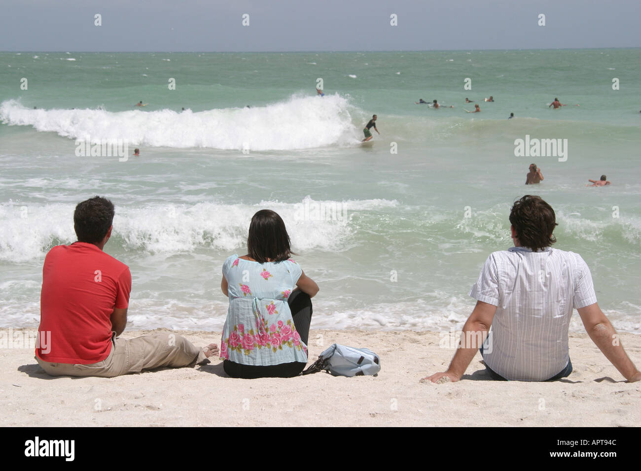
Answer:
[[[285,222],[277,213],[260,210],[251,218],[247,237],[247,254],[251,258],[260,263],[287,260],[296,255],[290,244]]]

